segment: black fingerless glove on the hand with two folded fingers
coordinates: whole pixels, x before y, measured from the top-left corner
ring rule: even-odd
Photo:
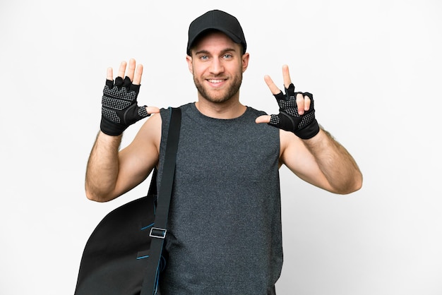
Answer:
[[[301,93],[308,96],[311,100],[309,111],[300,115],[298,112],[296,96]],[[316,136],[319,132],[318,121],[315,119],[315,109],[313,107],[313,95],[309,92],[294,92],[294,85],[290,84],[285,88],[285,94],[282,92],[274,95],[277,104],[280,106],[280,114],[270,115],[270,126],[275,126],[285,131],[291,131],[299,138],[309,139]]]

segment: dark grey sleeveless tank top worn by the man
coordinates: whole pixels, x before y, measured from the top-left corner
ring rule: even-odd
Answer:
[[[279,129],[181,107],[177,169],[160,279],[168,294],[268,294],[280,277]],[[162,109],[158,179],[169,111]],[[160,185],[160,184],[159,184]]]

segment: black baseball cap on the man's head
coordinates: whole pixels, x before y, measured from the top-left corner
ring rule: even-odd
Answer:
[[[237,18],[224,11],[213,10],[199,16],[189,25],[188,55],[191,53],[191,47],[196,38],[208,30],[219,30],[225,33],[233,42],[242,44],[243,54],[246,53],[246,37]]]

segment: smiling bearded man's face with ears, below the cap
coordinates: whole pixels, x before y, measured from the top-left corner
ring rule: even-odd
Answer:
[[[198,89],[198,97],[210,102],[239,99],[242,73],[249,64],[249,54],[222,32],[202,37],[187,56],[189,70]]]

